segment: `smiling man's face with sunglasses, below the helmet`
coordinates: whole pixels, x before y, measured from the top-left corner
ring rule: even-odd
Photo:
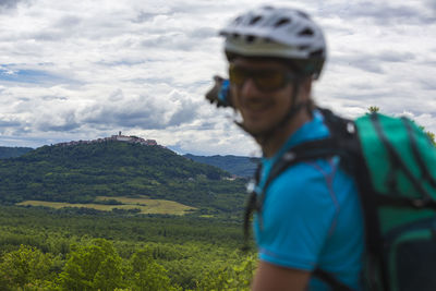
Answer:
[[[290,109],[293,93],[292,80],[280,83],[277,77],[292,76],[291,71],[279,62],[241,58],[230,66],[232,102],[243,118],[243,125],[252,134],[271,130]],[[232,70],[239,72],[233,81],[241,81],[240,84],[232,81]],[[244,75],[247,77],[241,77]]]

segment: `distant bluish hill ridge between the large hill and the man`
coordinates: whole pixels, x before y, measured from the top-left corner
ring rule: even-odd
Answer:
[[[255,158],[239,157],[231,155],[205,157],[205,156],[194,156],[187,154],[184,155],[184,157],[197,162],[218,167],[234,175],[245,177],[245,178],[252,178],[257,166],[256,163],[257,160]]]

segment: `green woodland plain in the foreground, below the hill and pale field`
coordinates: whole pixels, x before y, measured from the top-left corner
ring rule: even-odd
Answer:
[[[0,206],[0,290],[247,290],[240,225]]]

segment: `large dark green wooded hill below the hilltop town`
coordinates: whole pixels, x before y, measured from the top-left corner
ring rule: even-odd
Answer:
[[[158,145],[117,141],[44,146],[0,160],[0,203],[93,203],[98,196],[169,199],[205,213],[240,211],[245,180]]]

